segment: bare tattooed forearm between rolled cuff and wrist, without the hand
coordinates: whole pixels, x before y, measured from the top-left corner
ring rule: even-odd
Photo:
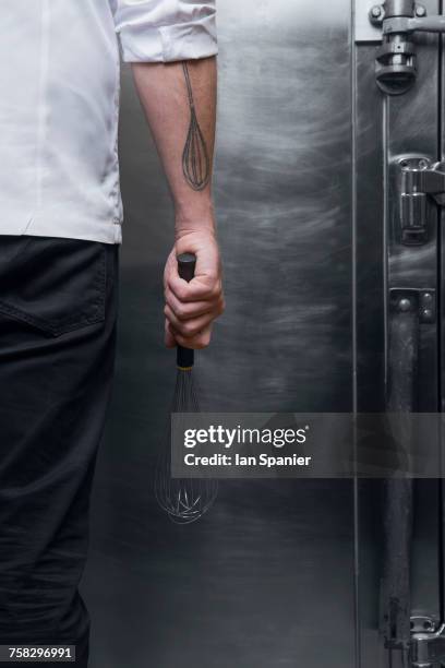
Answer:
[[[134,63],[133,73],[170,186],[177,236],[213,229],[215,58]]]

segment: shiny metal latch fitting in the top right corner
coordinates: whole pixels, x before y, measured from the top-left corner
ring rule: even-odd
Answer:
[[[368,28],[363,17],[357,17],[356,40],[382,40],[375,60],[377,85],[388,95],[401,95],[417,77],[413,34],[445,33],[445,16],[429,16],[426,8],[414,0],[385,0],[382,4],[371,0],[371,7],[362,0],[361,5],[368,5]]]

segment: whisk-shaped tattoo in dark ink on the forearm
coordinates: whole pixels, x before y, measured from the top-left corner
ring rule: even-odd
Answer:
[[[182,63],[190,106],[190,127],[182,154],[182,170],[193,190],[204,190],[211,178],[211,159],[204,135],[197,122],[189,68]]]

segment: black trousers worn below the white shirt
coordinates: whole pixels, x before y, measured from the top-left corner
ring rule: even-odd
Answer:
[[[77,586],[118,264],[117,246],[0,237],[0,644],[73,644],[82,668],[89,620]]]

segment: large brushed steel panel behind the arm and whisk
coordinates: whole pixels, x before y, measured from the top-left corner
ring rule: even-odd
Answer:
[[[219,3],[228,310],[199,356],[205,408],[352,407],[349,24],[349,0],[315,14],[311,0]],[[85,577],[92,666],[352,667],[350,481],[227,482],[188,528],[155,504],[175,380],[161,302],[172,210],[128,70],[121,118],[120,343]]]

